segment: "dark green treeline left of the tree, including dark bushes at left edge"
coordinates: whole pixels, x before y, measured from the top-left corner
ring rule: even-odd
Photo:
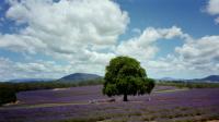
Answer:
[[[53,89],[65,87],[77,87],[87,85],[103,84],[103,80],[89,81],[51,81],[51,82],[27,82],[27,83],[0,83],[0,106],[8,102],[16,101],[16,93],[36,89]]]

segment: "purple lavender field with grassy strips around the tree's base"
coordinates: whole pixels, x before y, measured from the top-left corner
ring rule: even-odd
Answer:
[[[148,95],[108,97],[102,86],[21,91],[16,105],[0,108],[0,122],[217,122],[219,88],[157,86]]]

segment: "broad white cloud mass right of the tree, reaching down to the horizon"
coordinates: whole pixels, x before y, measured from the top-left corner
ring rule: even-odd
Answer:
[[[151,75],[178,78],[204,77],[219,72],[219,36],[204,36],[185,41],[175,48],[175,54],[148,61],[145,66]]]

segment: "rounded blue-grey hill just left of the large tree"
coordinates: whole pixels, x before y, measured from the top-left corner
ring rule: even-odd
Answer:
[[[61,77],[58,81],[88,81],[88,80],[95,80],[101,78],[102,76],[96,74],[89,74],[89,73],[74,73],[67,76]]]

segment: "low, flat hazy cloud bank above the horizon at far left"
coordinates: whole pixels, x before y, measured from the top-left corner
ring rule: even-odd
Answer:
[[[60,65],[54,61],[34,61],[34,62],[13,62],[7,58],[0,58],[0,77],[1,81],[11,78],[45,77],[59,78],[72,71],[72,66]]]

